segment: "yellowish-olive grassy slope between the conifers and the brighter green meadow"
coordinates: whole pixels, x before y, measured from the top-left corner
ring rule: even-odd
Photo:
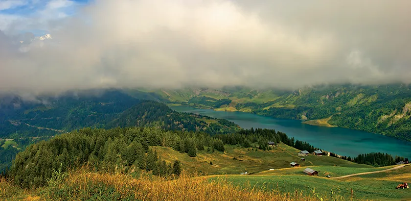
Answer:
[[[208,153],[198,151],[197,157],[189,157],[185,153],[179,153],[171,148],[153,147],[159,156],[167,162],[180,160],[183,168],[190,172],[197,172],[206,175],[240,174],[244,171],[258,173],[269,169],[280,169],[291,167],[290,163],[298,162],[301,166],[343,166],[357,168],[371,168],[364,164],[356,164],[329,156],[307,156],[306,161],[301,161],[297,155],[297,149],[284,144],[279,144],[271,151],[255,151],[251,148],[240,148],[236,146],[225,146],[226,151]],[[234,159],[235,158],[235,159]],[[210,165],[210,161],[213,165]]]

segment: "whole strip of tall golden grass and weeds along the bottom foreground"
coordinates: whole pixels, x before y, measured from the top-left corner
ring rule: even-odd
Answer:
[[[190,177],[185,174],[177,179],[166,179],[141,174],[138,178],[121,173],[97,173],[81,169],[69,173],[60,182],[24,191],[0,179],[0,200],[125,200],[125,201],[343,201],[340,196],[303,196],[302,192],[280,193],[251,186],[233,186],[221,179],[210,181],[208,177]],[[17,199],[16,199],[17,198]],[[35,198],[35,199],[32,199]]]

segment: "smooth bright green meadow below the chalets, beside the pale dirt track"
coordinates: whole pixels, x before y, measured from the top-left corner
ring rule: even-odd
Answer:
[[[389,168],[389,167],[385,167]],[[381,168],[347,168],[347,167],[313,167],[322,170],[319,176],[306,176],[300,170],[304,168],[288,168],[283,170],[267,171],[249,176],[229,175],[212,176],[209,179],[224,178],[233,185],[249,186],[251,188],[278,190],[280,192],[302,192],[303,195],[312,194],[315,189],[320,195],[330,196],[333,191],[343,197],[350,197],[351,189],[356,200],[409,200],[410,189],[395,189],[406,181],[411,181],[411,166],[384,173],[353,176],[343,179],[326,178],[324,172],[330,175],[349,175],[353,173],[382,170]]]

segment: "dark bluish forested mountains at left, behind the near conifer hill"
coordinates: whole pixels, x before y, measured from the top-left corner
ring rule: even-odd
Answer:
[[[35,101],[6,96],[0,100],[0,137],[51,136],[83,127],[160,126],[214,134],[237,127],[226,120],[180,113],[164,103],[141,100],[140,96],[156,99],[142,94],[134,91],[136,98],[120,90],[91,90],[67,92],[58,98],[38,97]]]

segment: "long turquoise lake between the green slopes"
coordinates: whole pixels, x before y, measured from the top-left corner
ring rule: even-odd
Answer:
[[[227,119],[243,128],[275,129],[290,137],[306,141],[314,147],[340,155],[353,157],[360,153],[384,152],[411,158],[411,142],[375,133],[341,127],[311,126],[302,124],[299,120],[275,119],[247,112],[214,111],[187,106],[171,106],[171,109]]]

